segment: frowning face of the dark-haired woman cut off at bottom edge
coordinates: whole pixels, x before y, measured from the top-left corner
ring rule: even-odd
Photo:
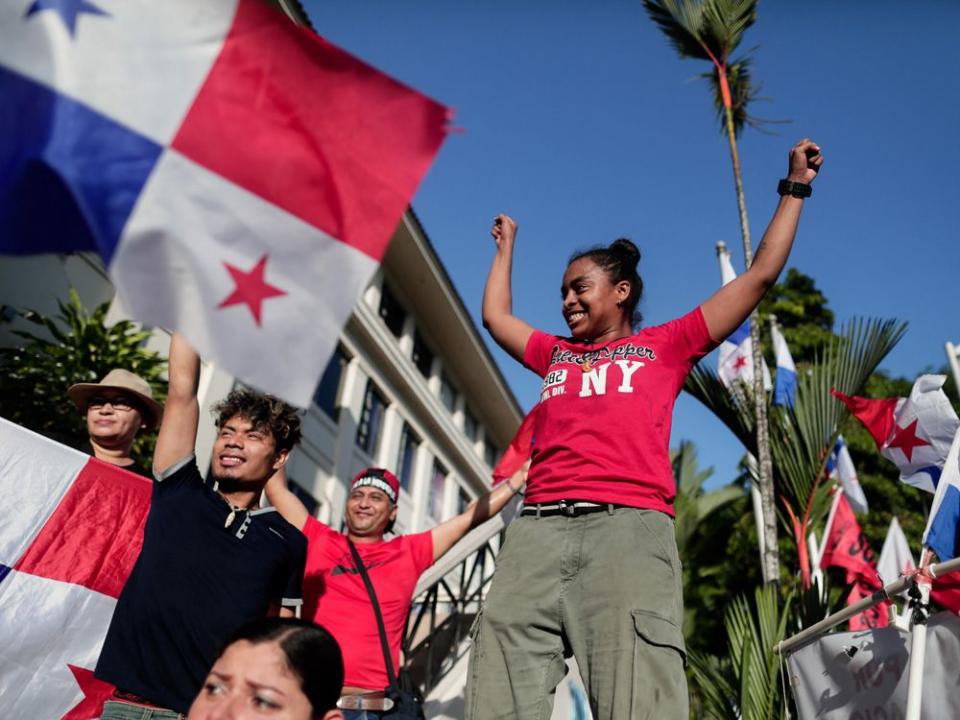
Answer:
[[[274,642],[233,643],[214,663],[188,720],[313,720],[300,680]]]

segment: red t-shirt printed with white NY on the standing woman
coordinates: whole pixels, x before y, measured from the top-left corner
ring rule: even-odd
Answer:
[[[524,364],[544,380],[526,503],[589,500],[673,515],[673,405],[716,344],[699,307],[608,343],[535,331]]]

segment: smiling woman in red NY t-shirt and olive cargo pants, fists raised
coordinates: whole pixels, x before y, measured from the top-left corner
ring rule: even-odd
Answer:
[[[570,337],[557,337],[513,315],[517,226],[494,221],[483,323],[543,386],[524,509],[474,626],[469,720],[549,718],[570,655],[596,720],[686,720],[673,405],[694,364],[776,282],[822,162],[812,141],[795,145],[751,267],[683,317],[642,330],[632,242],[571,258],[561,286]]]

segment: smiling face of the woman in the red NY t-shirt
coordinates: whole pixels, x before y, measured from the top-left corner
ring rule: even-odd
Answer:
[[[602,267],[590,258],[580,258],[567,266],[560,295],[570,334],[594,340],[623,323],[626,313],[617,303],[626,302],[630,283],[614,285]]]

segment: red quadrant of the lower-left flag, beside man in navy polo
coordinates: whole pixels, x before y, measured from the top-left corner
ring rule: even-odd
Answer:
[[[119,597],[140,554],[152,489],[91,458],[15,569]]]

